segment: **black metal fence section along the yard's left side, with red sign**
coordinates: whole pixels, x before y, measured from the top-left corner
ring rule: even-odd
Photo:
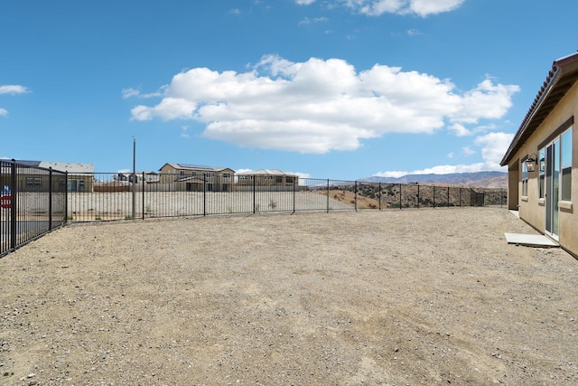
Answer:
[[[0,160],[0,257],[66,221],[67,174]]]

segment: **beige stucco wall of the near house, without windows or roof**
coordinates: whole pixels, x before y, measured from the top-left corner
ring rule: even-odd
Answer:
[[[572,201],[559,202],[559,242],[565,249],[578,255],[578,83],[573,85],[542,125],[520,147],[511,158],[509,167],[511,170],[518,162],[517,205],[520,218],[536,230],[545,232],[545,200],[539,198],[539,165],[536,165],[536,171],[528,172],[527,195],[523,196],[522,164],[528,156],[539,155],[538,146],[570,118],[574,118],[574,123],[570,126],[573,127]],[[512,190],[510,185],[509,191]]]

